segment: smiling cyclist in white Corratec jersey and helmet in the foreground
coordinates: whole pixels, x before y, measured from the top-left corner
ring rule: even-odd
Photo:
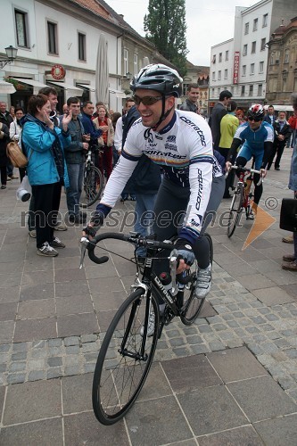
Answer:
[[[200,272],[195,294],[203,298],[211,284],[210,246],[202,235],[203,217],[207,209],[218,209],[225,180],[214,181],[211,188],[213,175],[219,179],[224,176],[213,156],[207,122],[191,111],[175,110],[182,81],[176,70],[162,64],[148,65],[132,79],[130,87],[141,118],[130,128],[120,161],[84,231],[95,235],[94,227],[103,224],[144,153],[165,172],[155,203],[153,232],[158,240],[176,235],[177,216],[186,213],[175,245],[179,253],[177,274],[189,268],[196,257]]]

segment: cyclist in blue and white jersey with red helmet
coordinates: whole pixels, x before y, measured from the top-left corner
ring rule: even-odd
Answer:
[[[264,114],[264,109],[260,103],[255,103],[249,108],[247,112],[248,121],[239,126],[235,132],[226,163],[227,170],[234,163],[236,166],[244,167],[247,161],[250,161],[253,157],[255,169],[261,171],[262,177],[266,176],[266,166],[274,140],[274,129],[268,122],[263,121]],[[243,146],[236,158],[237,149],[240,145]],[[254,174],[255,193],[252,210],[255,213],[257,213],[263,192],[262,184],[258,186],[259,181],[260,175]]]

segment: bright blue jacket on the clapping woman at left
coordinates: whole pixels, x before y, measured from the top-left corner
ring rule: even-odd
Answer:
[[[54,130],[45,126],[44,122],[27,114],[22,120],[21,148],[29,159],[26,168],[31,186],[49,185],[60,181],[54,162],[52,145],[56,138],[60,145],[70,145],[70,131],[63,132],[60,128]],[[64,160],[64,186],[69,186],[66,162]]]

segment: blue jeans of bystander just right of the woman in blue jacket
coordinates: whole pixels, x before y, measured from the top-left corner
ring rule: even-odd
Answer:
[[[70,186],[66,189],[66,201],[70,215],[78,215],[82,190],[84,164],[67,164]]]

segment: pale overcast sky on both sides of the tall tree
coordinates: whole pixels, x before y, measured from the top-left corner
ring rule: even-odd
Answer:
[[[136,32],[144,36],[144,14],[149,0],[106,0]],[[186,0],[188,61],[210,65],[210,46],[233,37],[235,6],[252,6],[256,0]]]

